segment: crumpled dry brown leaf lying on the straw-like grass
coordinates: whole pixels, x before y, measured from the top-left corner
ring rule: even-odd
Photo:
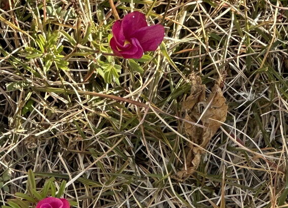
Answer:
[[[190,95],[182,102],[182,109],[185,111],[185,119],[201,124],[205,129],[191,123],[185,122],[185,132],[191,142],[206,148],[212,136],[221,126],[221,122],[226,121],[228,106],[225,103],[222,91],[218,83],[212,88],[205,101],[205,85],[202,85],[201,78],[193,75],[191,78],[192,87]],[[199,105],[203,105],[204,111],[200,112]],[[198,168],[201,155],[204,151],[189,143],[187,147],[186,162],[181,171],[177,172],[175,178],[183,180],[189,177]]]

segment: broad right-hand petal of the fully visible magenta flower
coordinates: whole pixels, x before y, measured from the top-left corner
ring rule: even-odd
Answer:
[[[163,41],[164,36],[165,30],[161,24],[142,27],[132,34],[132,37],[139,41],[144,52],[155,51]]]

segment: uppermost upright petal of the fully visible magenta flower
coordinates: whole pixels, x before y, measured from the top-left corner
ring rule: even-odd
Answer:
[[[131,34],[134,31],[147,26],[145,15],[137,11],[127,14],[122,20],[123,34],[126,40],[133,38]]]

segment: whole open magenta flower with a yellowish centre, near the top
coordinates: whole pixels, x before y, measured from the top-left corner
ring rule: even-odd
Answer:
[[[145,15],[132,12],[112,26],[110,46],[114,54],[123,58],[141,58],[146,51],[155,51],[164,39],[161,24],[148,26]]]

